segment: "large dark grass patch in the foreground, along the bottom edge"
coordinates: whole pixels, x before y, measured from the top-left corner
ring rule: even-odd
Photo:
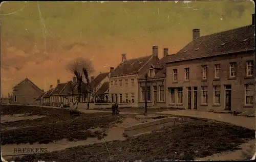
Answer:
[[[125,141],[78,146],[46,154],[27,155],[16,160],[194,160],[196,157],[239,149],[241,143],[254,137],[255,132],[247,128],[212,120],[195,120],[162,132],[142,134]]]

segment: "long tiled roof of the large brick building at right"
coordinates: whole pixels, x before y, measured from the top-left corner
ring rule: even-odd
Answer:
[[[243,26],[220,33],[201,36],[177,52],[172,61],[255,50],[255,25]]]

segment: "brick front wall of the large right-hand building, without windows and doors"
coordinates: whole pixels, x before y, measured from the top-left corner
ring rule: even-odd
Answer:
[[[187,109],[187,90],[186,87],[198,87],[198,110],[208,111],[209,109],[224,110],[225,107],[225,86],[231,85],[231,111],[245,111],[255,109],[256,104],[252,106],[245,106],[245,84],[254,83],[253,77],[246,77],[246,61],[253,60],[255,68],[255,52],[236,53],[233,55],[225,55],[219,57],[211,57],[201,60],[177,62],[166,64],[166,106],[167,107],[182,107]],[[229,78],[229,63],[236,62],[236,77]],[[220,79],[214,79],[215,64],[220,64]],[[207,80],[202,80],[202,66],[206,65]],[[185,68],[189,68],[190,78],[189,82],[185,81]],[[178,69],[178,82],[173,82],[173,69]],[[255,71],[255,70],[254,70]],[[214,87],[215,85],[221,86],[221,104],[214,105]],[[202,91],[201,86],[208,86],[208,104],[202,105]],[[183,87],[183,104],[171,105],[170,103],[170,87]]]

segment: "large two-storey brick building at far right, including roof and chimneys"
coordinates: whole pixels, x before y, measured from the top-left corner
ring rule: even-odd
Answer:
[[[255,25],[200,37],[166,62],[166,105],[208,111],[253,110]]]

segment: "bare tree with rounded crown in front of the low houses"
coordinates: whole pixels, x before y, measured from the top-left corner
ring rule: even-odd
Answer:
[[[74,61],[72,61],[68,65],[68,69],[75,74],[77,79],[77,91],[78,91],[78,102],[80,102],[81,94],[87,96],[87,94],[90,92],[90,79],[89,75],[94,72],[94,67],[92,65],[91,60],[84,59],[84,58],[77,58]],[[83,83],[83,77],[86,79],[86,89],[82,89]]]

